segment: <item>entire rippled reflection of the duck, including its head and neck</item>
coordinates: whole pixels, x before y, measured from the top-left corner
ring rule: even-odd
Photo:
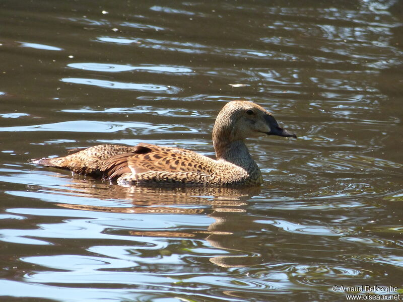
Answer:
[[[210,261],[222,267],[243,267],[260,264],[266,256],[260,253],[260,244],[255,237],[241,236],[242,232],[255,230],[260,225],[254,220],[256,216],[247,213],[248,200],[251,196],[258,196],[262,187],[205,187],[205,186],[110,186],[94,179],[84,179],[76,175],[68,186],[56,186],[47,188],[48,193],[57,193],[60,196],[77,196],[79,204],[57,203],[63,208],[95,211],[106,213],[96,214],[96,217],[104,217],[105,225],[111,228],[105,229],[108,234],[130,237],[177,239],[179,244],[185,238],[204,241],[212,247],[225,250],[216,253],[211,250]],[[96,200],[94,200],[94,198]],[[66,201],[72,200],[66,198]],[[101,204],[99,203],[101,200]],[[81,203],[84,202],[84,203]],[[126,216],[127,215],[127,216]],[[113,221],[130,221],[132,219],[147,220],[141,215],[161,215],[161,220],[176,221],[171,226],[154,224],[132,225],[127,228],[116,228]],[[172,215],[183,216],[173,218]],[[192,215],[194,218],[189,218]],[[85,217],[93,217],[84,213]],[[188,217],[188,218],[186,218]],[[206,220],[208,218],[208,220]],[[151,218],[153,219],[153,218]],[[155,218],[159,219],[159,218]],[[183,220],[184,219],[184,220]],[[191,219],[184,227],[178,221]],[[112,224],[108,224],[112,221]],[[241,221],[241,223],[240,223]],[[205,226],[205,224],[209,224]],[[113,225],[113,226],[112,226]],[[132,240],[132,239],[129,239]],[[137,239],[134,239],[137,240]],[[144,239],[139,239],[144,240]],[[257,250],[257,252],[256,252]],[[170,248],[163,252],[170,253]],[[265,252],[264,252],[265,253]],[[266,253],[265,253],[266,254]],[[267,258],[267,257],[266,257]]]

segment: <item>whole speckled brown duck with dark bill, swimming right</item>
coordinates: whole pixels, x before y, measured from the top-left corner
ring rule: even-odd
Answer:
[[[135,146],[100,144],[70,150],[64,157],[31,163],[116,181],[119,185],[258,186],[263,183],[245,139],[277,135],[294,137],[271,112],[250,101],[230,101],[213,127],[216,159],[188,149],[141,142]]]

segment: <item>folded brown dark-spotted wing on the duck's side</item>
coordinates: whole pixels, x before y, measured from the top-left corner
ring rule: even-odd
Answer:
[[[150,171],[213,173],[215,160],[193,151],[139,143],[132,152],[113,156],[103,162],[104,178],[117,179],[123,174]]]

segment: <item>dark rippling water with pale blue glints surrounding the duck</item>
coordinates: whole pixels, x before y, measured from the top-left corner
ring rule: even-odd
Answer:
[[[0,6],[2,300],[402,293],[401,2]],[[121,187],[28,163],[100,143],[212,156],[218,111],[241,99],[298,135],[249,139],[259,188]]]

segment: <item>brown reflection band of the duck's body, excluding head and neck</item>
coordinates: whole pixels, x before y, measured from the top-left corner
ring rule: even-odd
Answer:
[[[130,201],[133,207],[166,206],[169,211],[173,206],[191,205],[200,208],[212,207],[214,210],[228,207],[240,207],[246,205],[248,196],[256,196],[261,187],[206,187],[206,186],[110,186],[107,182],[99,182],[81,175],[75,175],[68,185],[52,187],[52,192],[63,196],[76,196],[80,198],[97,198],[99,200],[123,201],[123,212],[134,213],[137,210],[126,208],[126,201]],[[70,201],[69,201],[70,202]],[[95,204],[96,211],[108,212],[109,209]],[[90,210],[91,205],[86,205],[85,210]],[[146,209],[140,209],[141,212]],[[119,211],[118,208],[110,211]],[[174,210],[175,211],[175,210]],[[183,211],[181,211],[183,212]]]

